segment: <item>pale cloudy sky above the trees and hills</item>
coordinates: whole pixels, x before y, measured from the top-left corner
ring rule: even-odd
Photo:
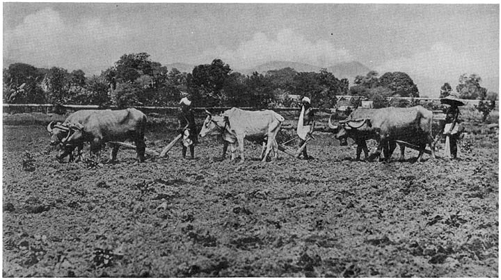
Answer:
[[[355,60],[406,72],[432,97],[463,73],[499,92],[499,28],[498,4],[4,2],[3,63],[92,75],[137,52],[162,65],[221,58],[236,70]]]

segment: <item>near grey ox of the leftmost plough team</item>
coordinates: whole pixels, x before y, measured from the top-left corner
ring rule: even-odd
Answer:
[[[82,147],[90,142],[90,151],[100,161],[100,149],[106,142],[132,140],[136,144],[136,158],[144,161],[146,116],[139,110],[89,110],[79,122],[60,124],[58,129],[67,129],[67,135],[61,140],[64,147]],[[50,126],[50,124],[49,124]],[[54,133],[53,133],[54,135]],[[110,161],[116,160],[119,145],[113,144]]]

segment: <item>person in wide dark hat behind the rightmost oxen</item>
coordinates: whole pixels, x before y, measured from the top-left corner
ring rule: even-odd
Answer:
[[[440,99],[442,104],[450,105],[445,112],[445,125],[443,126],[443,135],[445,135],[445,156],[451,159],[457,158],[457,140],[459,138],[459,106],[464,103],[454,95],[449,95]]]

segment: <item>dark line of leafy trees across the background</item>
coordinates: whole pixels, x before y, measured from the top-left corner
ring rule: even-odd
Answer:
[[[479,76],[462,75],[456,91],[461,98],[486,99]],[[296,72],[292,68],[270,70],[265,74],[244,75],[234,72],[220,59],[198,65],[191,73],[170,71],[150,60],[148,53],[129,53],[120,57],[100,75],[86,76],[82,70],[68,72],[61,67],[37,68],[13,63],[3,69],[3,103],[5,104],[76,104],[133,106],[176,106],[182,92],[191,94],[194,106],[237,106],[274,108],[296,106],[297,99],[308,96],[312,105],[333,108],[335,95],[353,95],[384,104],[386,97],[419,97],[417,85],[404,72],[386,72],[379,76],[369,72],[356,76],[349,87],[347,79],[337,79],[326,69],[319,72]],[[440,96],[450,94],[445,83]]]

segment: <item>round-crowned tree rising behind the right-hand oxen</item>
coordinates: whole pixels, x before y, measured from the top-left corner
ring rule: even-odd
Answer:
[[[417,85],[404,72],[386,72],[379,78],[379,85],[392,90],[392,95],[401,97],[419,97]]]

